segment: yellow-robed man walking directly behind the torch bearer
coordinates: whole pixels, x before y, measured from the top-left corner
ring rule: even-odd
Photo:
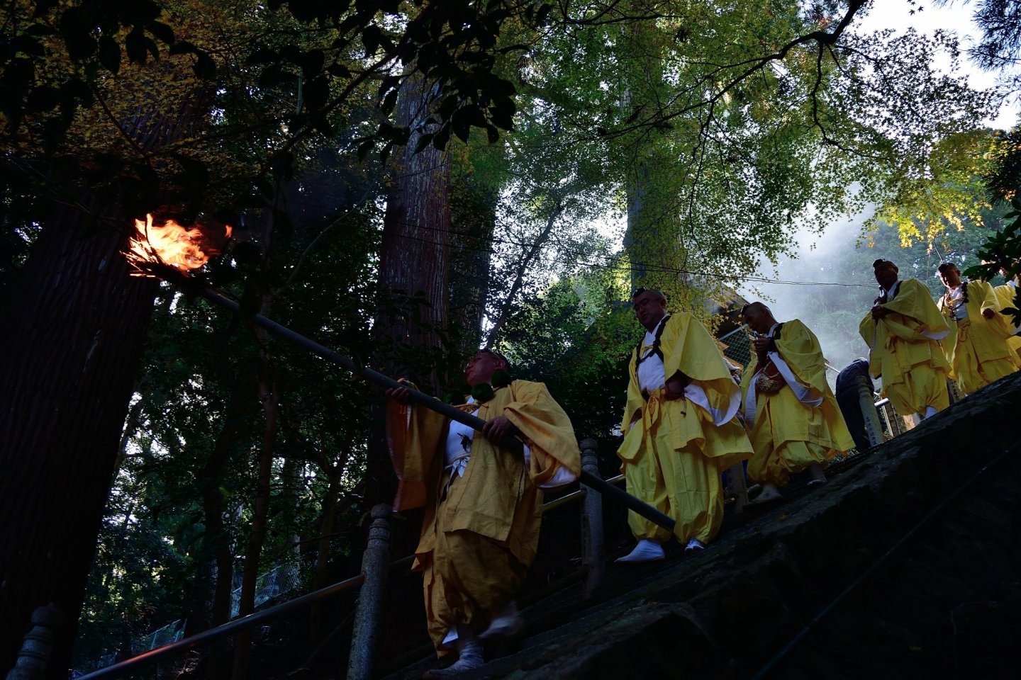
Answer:
[[[735,417],[740,390],[706,327],[688,312],[668,315],[660,291],[638,289],[632,301],[647,332],[631,355],[617,455],[628,493],[676,525],[671,534],[629,512],[638,543],[625,563],[663,560],[672,535],[685,551],[704,547],[723,521],[722,471],[751,456]]]

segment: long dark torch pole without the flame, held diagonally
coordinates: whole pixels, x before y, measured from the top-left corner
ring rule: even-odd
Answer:
[[[241,306],[238,303],[231,300],[230,298],[225,297],[221,293],[217,293],[216,291],[210,287],[203,286],[199,289],[198,295],[200,295],[202,298],[205,298],[214,305],[223,307],[224,309],[230,311],[233,314],[242,315]],[[252,323],[254,323],[257,326],[265,328],[268,331],[270,331],[277,337],[286,339],[293,345],[304,348],[309,352],[311,352],[312,354],[314,354],[315,356],[325,359],[330,363],[337,364],[341,368],[344,368],[350,371],[351,373],[354,373],[355,375],[358,375],[364,378],[366,380],[369,380],[370,382],[374,382],[382,387],[407,387],[407,390],[410,394],[410,400],[412,402],[421,404],[427,409],[435,411],[442,416],[446,416],[450,420],[456,420],[457,422],[464,423],[465,425],[468,425],[469,427],[476,430],[481,430],[482,426],[486,424],[486,421],[484,421],[482,418],[473,416],[470,413],[465,413],[460,409],[450,406],[449,404],[445,404],[440,400],[436,399],[435,397],[430,397],[429,395],[421,393],[418,389],[411,389],[406,383],[398,382],[393,378],[391,378],[390,376],[384,375],[379,371],[375,371],[369,368],[368,366],[361,366],[350,357],[345,357],[341,354],[337,354],[333,350],[324,347],[319,343],[305,337],[304,335],[296,333],[287,326],[283,326],[277,323],[276,321],[262,316],[261,314],[244,315],[244,318],[249,319]],[[510,447],[512,449],[517,449],[518,451],[521,451],[522,442],[514,437],[507,437],[507,440],[501,441],[500,443],[503,446]],[[585,470],[582,470],[579,480],[583,484],[586,484],[590,488],[599,491],[603,495],[617,500],[618,502],[627,506],[629,510],[633,510],[642,517],[652,522],[655,522],[660,526],[669,529],[670,531],[674,530],[675,522],[671,517],[668,517],[667,515],[661,513],[655,508],[645,503],[642,503],[641,501],[631,495],[627,491],[624,491],[618,488],[617,486],[607,483],[602,478],[593,475],[589,472],[586,472]]]

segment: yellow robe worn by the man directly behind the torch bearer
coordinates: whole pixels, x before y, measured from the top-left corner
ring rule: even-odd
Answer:
[[[717,416],[733,412],[738,387],[713,337],[690,313],[674,314],[661,335],[666,377],[680,371],[700,386]],[[717,425],[717,417],[688,399],[665,400],[661,388],[646,401],[638,385],[637,349],[629,366],[628,403],[621,429],[621,458],[628,493],[674,519],[674,535],[681,542],[697,538],[709,542],[723,521],[720,474],[751,457],[744,428],[731,417]],[[641,418],[631,418],[638,409]],[[669,540],[671,533],[634,512],[628,525],[636,538]]]

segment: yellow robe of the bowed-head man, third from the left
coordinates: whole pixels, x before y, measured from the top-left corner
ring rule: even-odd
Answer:
[[[750,438],[756,453],[748,461],[747,473],[756,481],[782,486],[791,473],[814,463],[826,465],[833,456],[854,448],[855,440],[826,382],[823,352],[815,333],[792,319],[783,324],[775,345],[791,377],[806,391],[798,399],[793,388],[784,383],[772,395],[755,395]],[[757,368],[755,362],[748,364],[741,376],[742,405],[749,404],[748,390],[756,389]],[[822,403],[818,406],[805,403],[820,399]]]

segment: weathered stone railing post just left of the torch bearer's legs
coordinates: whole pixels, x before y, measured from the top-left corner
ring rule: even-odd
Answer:
[[[371,680],[379,634],[383,591],[390,572],[390,506],[373,507],[369,541],[361,556],[361,574],[366,577],[358,592],[351,634],[351,655],[347,663],[348,680]]]

